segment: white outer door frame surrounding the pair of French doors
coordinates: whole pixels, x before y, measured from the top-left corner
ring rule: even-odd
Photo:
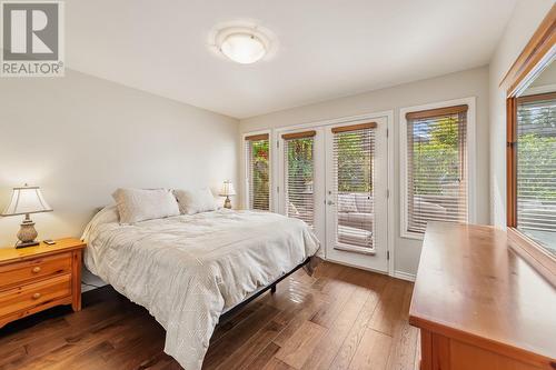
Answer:
[[[388,144],[388,201],[387,201],[387,220],[388,220],[388,236],[387,236],[387,253],[389,256],[388,258],[388,274],[390,277],[394,277],[395,274],[395,259],[396,259],[396,246],[394,243],[394,240],[396,238],[396,228],[395,228],[395,204],[394,204],[394,173],[395,173],[395,148],[394,148],[394,138],[395,138],[395,123],[394,123],[394,110],[386,110],[386,111],[379,111],[379,112],[369,112],[369,113],[364,113],[359,116],[350,116],[350,117],[340,117],[340,118],[335,118],[335,119],[328,119],[328,120],[321,120],[321,121],[312,121],[312,122],[305,122],[305,123],[297,123],[297,124],[291,124],[291,126],[282,126],[272,129],[272,134],[270,136],[272,138],[274,144],[277,142],[281,141],[281,134],[287,132],[287,131],[295,131],[295,130],[301,130],[301,129],[309,129],[309,128],[316,128],[316,127],[322,127],[322,126],[329,126],[329,124],[341,124],[341,123],[355,123],[361,120],[373,120],[373,119],[378,119],[378,118],[386,118],[387,119],[387,128],[388,128],[388,134],[387,134],[387,144]],[[275,147],[276,148],[276,147]],[[278,151],[281,152],[281,151]],[[281,158],[279,156],[275,157],[275,160],[277,161],[278,166],[272,166],[274,168],[274,173],[272,178],[275,179],[275,182],[272,183],[272,193],[274,193],[274,209],[278,210],[279,209],[279,199],[278,199],[278,191],[277,191],[277,186],[280,180],[280,162]],[[280,191],[282,189],[280,188]],[[326,256],[325,256],[326,259]],[[384,273],[384,271],[379,271]]]

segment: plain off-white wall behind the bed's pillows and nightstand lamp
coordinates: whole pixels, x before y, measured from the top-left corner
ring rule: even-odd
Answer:
[[[80,237],[118,187],[237,183],[238,121],[75,71],[0,79],[0,208],[11,188],[42,187],[54,212],[39,238]],[[12,246],[20,217],[0,218]]]

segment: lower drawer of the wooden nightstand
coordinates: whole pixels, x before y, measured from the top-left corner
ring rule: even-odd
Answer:
[[[71,294],[71,274],[56,276],[0,292],[0,317]]]

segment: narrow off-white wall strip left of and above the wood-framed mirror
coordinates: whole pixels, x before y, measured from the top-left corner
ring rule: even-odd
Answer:
[[[490,214],[506,227],[506,91],[499,83],[553,6],[553,0],[518,0],[489,67]]]

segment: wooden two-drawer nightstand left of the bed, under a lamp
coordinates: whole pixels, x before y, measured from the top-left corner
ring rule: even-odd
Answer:
[[[79,239],[61,239],[54,246],[0,249],[0,328],[53,306],[81,310],[85,246]]]

